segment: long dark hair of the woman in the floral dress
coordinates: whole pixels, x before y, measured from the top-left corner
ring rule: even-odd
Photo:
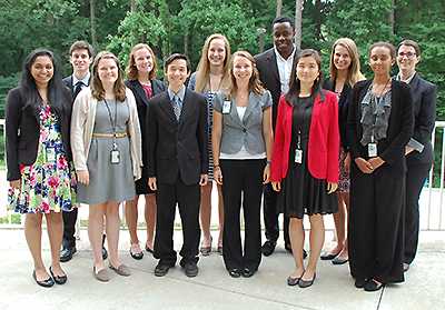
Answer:
[[[41,103],[41,98],[37,90],[34,78],[31,74],[31,67],[39,56],[48,57],[52,62],[53,76],[48,82],[48,100],[49,106],[60,112],[63,110],[63,107],[71,104],[71,96],[68,88],[63,84],[59,71],[59,63],[50,50],[36,49],[26,58],[20,81],[21,94],[27,102],[26,106],[38,109]]]

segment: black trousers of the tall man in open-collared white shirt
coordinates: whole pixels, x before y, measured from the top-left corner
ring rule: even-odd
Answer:
[[[278,217],[279,213],[277,212],[277,197],[278,192],[276,192],[271,184],[266,184],[264,187],[264,209],[263,209],[263,217],[265,222],[265,230],[266,230],[266,239],[277,242],[279,237],[279,223]],[[290,239],[289,239],[289,218],[283,214],[283,233],[285,239],[285,244],[290,247]]]

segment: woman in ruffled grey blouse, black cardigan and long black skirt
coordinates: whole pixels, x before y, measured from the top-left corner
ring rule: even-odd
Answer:
[[[409,87],[390,79],[396,52],[369,48],[372,80],[357,82],[348,113],[350,214],[348,247],[355,286],[366,291],[404,281],[405,146],[413,134]]]

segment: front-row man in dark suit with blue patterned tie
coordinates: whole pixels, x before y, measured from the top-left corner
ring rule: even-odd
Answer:
[[[185,87],[190,64],[185,54],[167,58],[167,91],[149,101],[147,113],[148,183],[157,190],[155,276],[167,274],[176,264],[174,223],[176,203],[182,223],[180,266],[187,277],[198,274],[200,188],[207,183],[207,103]]]

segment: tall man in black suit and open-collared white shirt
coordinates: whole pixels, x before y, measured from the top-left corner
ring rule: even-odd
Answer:
[[[294,59],[297,49],[294,47],[295,37],[294,21],[287,17],[278,17],[273,23],[274,47],[267,51],[255,56],[259,79],[263,84],[270,91],[273,98],[273,126],[277,120],[278,101],[283,93],[289,89],[290,71],[294,66]],[[264,221],[266,229],[266,242],[263,244],[261,252],[264,256],[270,256],[277,244],[279,237],[279,224],[277,213],[277,192],[270,184],[265,186],[264,191]],[[289,252],[289,219],[284,217],[284,239],[285,248]]]

